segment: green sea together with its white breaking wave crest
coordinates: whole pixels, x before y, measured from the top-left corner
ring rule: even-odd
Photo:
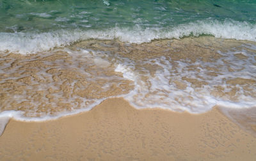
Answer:
[[[1,0],[0,20],[0,50],[21,54],[89,38],[142,43],[207,34],[256,41],[255,1]]]

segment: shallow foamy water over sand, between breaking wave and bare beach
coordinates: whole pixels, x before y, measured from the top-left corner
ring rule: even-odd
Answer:
[[[111,96],[137,108],[202,113],[255,107],[256,44],[212,36],[124,43],[86,40],[32,55],[1,55],[1,111],[47,118]]]

